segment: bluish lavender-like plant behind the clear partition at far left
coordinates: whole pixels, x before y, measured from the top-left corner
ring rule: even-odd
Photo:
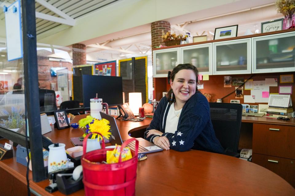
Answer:
[[[0,123],[0,125],[7,129],[17,129],[25,125],[26,124],[26,121],[24,118],[25,114],[21,114],[20,112],[21,112],[21,109],[17,110],[15,107],[11,107],[11,115],[9,114],[8,111],[3,110],[3,113],[8,115],[8,119],[7,120],[1,119],[3,123]]]

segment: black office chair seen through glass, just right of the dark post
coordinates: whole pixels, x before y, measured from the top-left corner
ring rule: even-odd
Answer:
[[[39,89],[40,111],[54,111],[57,110],[56,96],[54,90]]]

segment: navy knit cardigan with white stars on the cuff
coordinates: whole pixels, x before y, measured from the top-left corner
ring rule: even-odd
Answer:
[[[153,142],[155,135],[147,138],[148,130],[161,131],[170,142],[170,149],[187,151],[189,149],[203,150],[214,153],[224,153],[224,149],[215,136],[210,119],[210,107],[205,96],[196,92],[182,108],[175,133],[165,133],[167,114],[171,104],[163,97],[153,116],[151,124],[144,133],[144,139]]]

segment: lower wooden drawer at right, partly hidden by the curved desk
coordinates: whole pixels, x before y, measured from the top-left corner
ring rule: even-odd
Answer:
[[[295,187],[295,160],[252,153],[252,163],[273,171]]]

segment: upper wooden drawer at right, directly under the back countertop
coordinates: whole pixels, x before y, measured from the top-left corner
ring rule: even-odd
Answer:
[[[253,124],[253,153],[295,159],[295,127]]]

